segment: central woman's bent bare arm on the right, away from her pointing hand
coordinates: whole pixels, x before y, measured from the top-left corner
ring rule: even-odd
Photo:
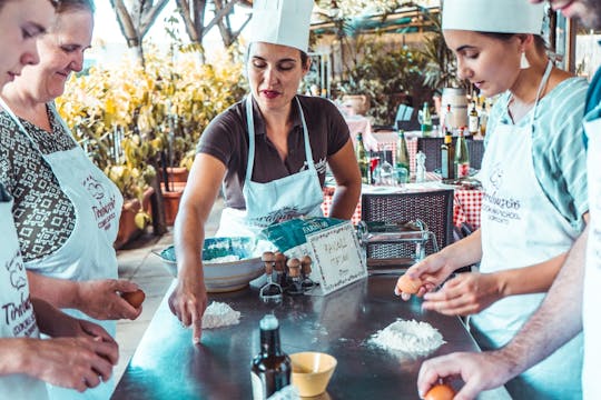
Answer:
[[[348,139],[346,144],[331,156],[327,162],[336,179],[336,191],[332,199],[329,217],[349,220],[361,197],[361,172],[353,150],[353,141]]]

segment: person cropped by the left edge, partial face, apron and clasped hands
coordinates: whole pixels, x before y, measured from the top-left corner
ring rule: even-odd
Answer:
[[[50,0],[0,0],[0,89],[38,62],[37,38],[53,21],[52,6]],[[47,399],[42,379],[80,391],[96,387],[117,362],[117,343],[100,327],[30,299],[12,203],[0,182],[0,399]],[[40,331],[71,338],[41,340]]]

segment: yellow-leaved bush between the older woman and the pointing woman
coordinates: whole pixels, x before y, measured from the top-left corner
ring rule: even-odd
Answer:
[[[155,179],[157,171],[189,169],[205,127],[246,92],[240,84],[239,51],[223,57],[215,68],[200,64],[194,54],[174,62],[158,51],[147,51],[144,68],[125,60],[71,78],[57,101],[59,111],[126,200],[144,203],[144,193],[152,186],[162,212],[162,206],[169,207],[162,199],[171,197],[165,193],[181,193],[179,186],[161,188]],[[160,212],[155,214],[160,217]],[[142,208],[136,221],[142,227],[150,213]]]

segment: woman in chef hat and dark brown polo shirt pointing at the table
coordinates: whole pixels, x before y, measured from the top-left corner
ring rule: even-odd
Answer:
[[[298,96],[313,0],[253,4],[246,74],[250,93],[203,132],[175,227],[178,284],[171,311],[200,339],[207,294],[198,254],[205,222],[223,184],[226,208],[217,236],[255,237],[300,216],[321,216],[326,164],[336,179],[331,216],[349,219],[361,174],[348,128],[328,100]]]

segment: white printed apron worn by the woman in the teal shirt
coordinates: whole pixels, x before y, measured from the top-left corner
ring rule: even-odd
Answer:
[[[499,123],[486,151],[480,177],[482,199],[483,273],[522,268],[566,252],[580,232],[575,231],[546,198],[532,161],[531,123],[520,128]],[[500,348],[510,341],[539,308],[544,293],[511,296],[496,301],[471,318],[473,333],[484,349]],[[582,337],[566,343],[545,361],[508,383],[514,399],[580,399]]]

